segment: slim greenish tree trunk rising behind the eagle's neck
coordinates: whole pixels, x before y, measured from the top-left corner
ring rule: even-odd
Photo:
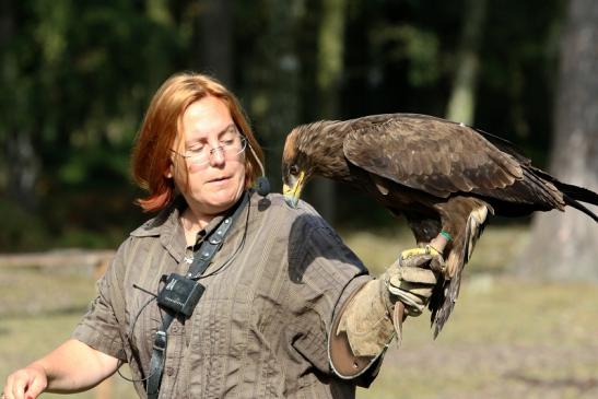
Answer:
[[[344,50],[345,0],[323,2],[323,15],[318,33],[317,87],[319,99],[318,119],[339,117],[339,89]],[[314,206],[319,213],[335,223],[335,185],[328,179],[314,179]]]

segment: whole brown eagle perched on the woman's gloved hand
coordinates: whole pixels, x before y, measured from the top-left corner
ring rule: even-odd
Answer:
[[[598,222],[581,203],[597,206],[598,193],[559,181],[507,140],[427,115],[371,115],[294,128],[282,155],[288,204],[296,207],[313,176],[349,185],[404,216],[418,244],[413,251],[437,257],[442,272],[429,303],[434,338],[454,309],[462,269],[490,215],[517,218],[568,206]]]

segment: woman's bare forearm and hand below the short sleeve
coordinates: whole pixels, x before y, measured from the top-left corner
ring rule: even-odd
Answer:
[[[34,399],[43,391],[90,389],[116,372],[118,359],[71,339],[7,378],[4,399]]]

